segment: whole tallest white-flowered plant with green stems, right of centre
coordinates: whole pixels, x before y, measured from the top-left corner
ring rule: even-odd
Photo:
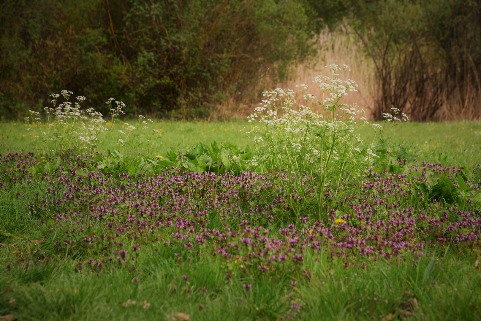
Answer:
[[[298,110],[294,109],[297,103],[293,90],[265,91],[266,99],[248,117],[256,126],[247,131],[257,147],[257,157],[252,160],[257,170],[287,172],[288,179],[276,183],[287,193],[300,193],[302,211],[314,210],[319,219],[324,213],[326,188],[338,193],[348,186],[350,178],[359,177],[366,166],[379,158],[375,152],[384,141],[386,124],[396,126],[408,120],[404,113],[399,119],[399,110],[393,108],[394,116],[384,115],[384,126],[372,124],[374,139],[364,146],[356,135],[360,125],[368,124],[364,110],[356,104],[341,103],[349,92],[357,91],[354,80],[341,79],[351,69],[347,65],[340,69],[337,64],[326,67],[330,76],[317,76],[313,80],[319,89],[318,96],[308,93],[307,85],[296,85],[303,96]],[[306,178],[316,183],[306,186]],[[306,189],[314,189],[316,197],[306,197]],[[301,208],[293,204],[292,208],[299,216]]]

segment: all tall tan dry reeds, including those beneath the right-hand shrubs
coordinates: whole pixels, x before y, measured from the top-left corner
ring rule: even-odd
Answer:
[[[351,68],[350,72],[343,75],[342,79],[353,79],[359,85],[358,92],[349,93],[344,99],[344,103],[357,105],[364,109],[368,119],[373,120],[379,118],[381,105],[382,90],[380,89],[380,81],[376,78],[375,65],[370,57],[365,54],[362,44],[357,35],[350,32],[346,25],[340,25],[335,30],[325,28],[316,36],[314,41],[314,48],[316,55],[306,59],[303,62],[298,62],[291,68],[289,79],[282,82],[276,82],[274,77],[270,77],[270,72],[267,71],[265,77],[257,82],[247,92],[244,92],[241,99],[231,98],[225,103],[214,107],[211,111],[209,120],[245,120],[245,116],[252,113],[260,101],[260,93],[263,90],[273,90],[274,88],[290,88],[295,90],[295,85],[306,84],[308,92],[313,95],[318,95],[319,91],[315,84],[312,83],[314,77],[317,75],[329,76],[329,70],[326,68],[329,64],[347,64]],[[271,69],[275,69],[273,66]],[[435,95],[439,101],[438,109],[432,113],[429,119],[424,119],[418,114],[423,113],[423,109],[427,108],[427,103],[417,102],[416,99],[406,99],[406,103],[402,108],[405,113],[415,120],[420,121],[460,121],[460,120],[478,120],[481,121],[481,84],[477,74],[472,76],[472,73],[465,73],[468,77],[475,77],[473,79],[456,79],[452,81],[464,82],[462,86],[455,87],[456,90],[448,92],[444,86],[443,90],[437,93],[430,92],[430,86],[424,84],[421,90],[426,91],[426,95]],[[395,82],[392,86],[396,86]],[[404,93],[406,96],[415,98],[416,94],[411,87]],[[300,103],[302,97],[298,93],[296,100]],[[262,98],[261,98],[262,99]],[[413,102],[411,102],[413,101]],[[419,106],[418,104],[423,104]],[[426,106],[424,106],[426,105]],[[391,111],[391,106],[387,107],[387,111]],[[382,113],[382,112],[381,112]]]

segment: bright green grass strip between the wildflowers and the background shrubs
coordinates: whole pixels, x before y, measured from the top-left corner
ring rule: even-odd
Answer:
[[[45,125],[40,126],[43,128]],[[229,141],[243,147],[252,142],[244,132],[241,132],[241,129],[250,126],[248,122],[155,121],[150,129],[162,129],[162,138],[153,145],[152,154],[165,154],[168,147],[187,148],[198,141],[203,143],[210,143],[213,140]],[[8,150],[24,153],[34,151],[35,147],[25,128],[23,123],[3,123],[0,126],[0,153],[5,154]],[[125,126],[116,126],[112,136],[106,139],[106,149],[118,149],[115,145],[119,137],[116,130],[121,128]],[[361,126],[358,132],[365,143],[372,141],[372,129],[368,125]],[[387,137],[394,145],[404,142],[411,153],[417,154],[419,160],[426,162],[467,167],[481,162],[481,124],[479,122],[407,122],[392,128]],[[122,152],[144,154],[147,139],[149,139],[148,130],[125,146]]]

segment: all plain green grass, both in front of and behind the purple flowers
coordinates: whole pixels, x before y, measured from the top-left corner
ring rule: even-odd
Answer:
[[[239,133],[247,123],[157,124],[164,132],[157,147],[159,153],[165,146],[188,147],[213,139],[240,146],[249,143]],[[481,131],[479,123],[402,125],[389,136],[409,141],[419,160],[468,167],[481,163],[481,135],[474,134]],[[5,141],[0,145],[1,153],[7,148],[11,152],[33,150],[19,128],[11,123],[1,126]],[[369,128],[361,127],[363,137],[368,133]],[[130,151],[141,152],[139,148]],[[24,207],[19,200],[1,204],[0,218],[15,217],[19,226],[30,231],[25,235],[27,248],[34,246],[28,239],[38,239],[41,231],[29,222]],[[131,282],[132,275],[126,270],[76,273],[75,261],[70,259],[27,270],[13,266],[9,273],[0,274],[1,288],[5,288],[0,294],[0,315],[13,313],[18,320],[164,320],[167,314],[185,312],[191,320],[277,320],[297,313],[296,318],[305,320],[386,320],[413,293],[420,307],[413,320],[481,320],[481,274],[474,267],[476,254],[458,252],[452,246],[446,254],[436,253],[433,268],[430,258],[419,264],[379,261],[363,270],[306,257],[306,269],[314,272],[310,280],[285,271],[276,282],[263,276],[239,279],[234,271],[230,282],[219,262],[194,259],[194,269],[187,269],[176,264],[172,253],[161,249],[139,258],[137,264],[144,275],[138,283]],[[4,269],[14,256],[2,251],[0,267]],[[185,273],[189,273],[189,283],[182,278]],[[297,286],[291,287],[291,281],[298,281]],[[176,294],[172,293],[174,282]],[[243,283],[252,283],[253,290],[246,292]],[[191,293],[187,285],[193,289]],[[199,289],[204,286],[206,291]],[[144,309],[138,303],[124,308],[121,304],[127,299],[145,299],[151,306]],[[304,307],[292,310],[291,305],[296,303]],[[401,319],[405,316],[398,315]]]

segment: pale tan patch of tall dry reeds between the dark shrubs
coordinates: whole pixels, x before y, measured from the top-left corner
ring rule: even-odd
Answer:
[[[318,87],[312,84],[312,81],[318,75],[329,76],[329,69],[326,68],[329,64],[340,66],[347,64],[351,68],[351,71],[344,74],[342,79],[353,79],[359,88],[358,92],[349,93],[344,99],[344,103],[357,103],[369,117],[374,106],[375,75],[371,61],[365,56],[355,37],[357,36],[350,33],[345,26],[339,26],[333,31],[326,27],[312,40],[316,54],[291,67],[289,79],[282,82],[273,81],[273,77],[270,77],[270,72],[267,70],[266,76],[244,93],[244,97],[240,100],[231,98],[213,108],[209,120],[245,120],[245,116],[252,114],[253,108],[258,105],[258,94],[263,90],[273,90],[274,88],[295,90],[295,85],[306,84],[309,93],[318,95]],[[274,70],[275,66],[270,69]],[[298,94],[296,100],[300,102],[301,96],[298,90],[295,91]]]

